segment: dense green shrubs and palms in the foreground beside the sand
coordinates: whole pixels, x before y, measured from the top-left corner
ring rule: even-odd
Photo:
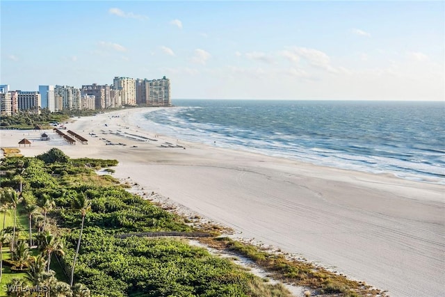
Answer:
[[[194,229],[183,218],[129,193],[110,175],[95,173],[116,164],[70,159],[58,149],[3,160],[2,187],[15,193],[22,184],[18,217],[29,222],[29,230],[16,228],[21,231],[15,256],[3,260],[9,265],[3,274],[11,286],[47,286],[51,296],[289,296],[281,284],[268,284],[185,241],[120,239],[120,234]],[[2,204],[13,204],[3,196]],[[31,244],[37,248],[31,250]]]

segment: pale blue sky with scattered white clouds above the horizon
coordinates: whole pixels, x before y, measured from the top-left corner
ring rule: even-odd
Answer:
[[[0,1],[0,84],[172,99],[444,100],[444,1]]]

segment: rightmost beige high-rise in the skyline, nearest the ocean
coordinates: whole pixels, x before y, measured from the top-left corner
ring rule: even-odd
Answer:
[[[147,106],[171,106],[170,79],[137,79],[136,102]]]

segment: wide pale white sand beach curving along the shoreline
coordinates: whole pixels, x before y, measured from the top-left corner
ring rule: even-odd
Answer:
[[[50,141],[40,141],[42,131],[2,130],[0,146],[27,138],[24,156],[58,147],[72,158],[118,159],[115,177],[231,227],[234,236],[301,255],[389,296],[445,296],[445,186],[157,136],[129,123],[147,110],[72,119],[65,126],[88,145],[69,145],[50,130]],[[118,130],[157,141],[111,134]]]

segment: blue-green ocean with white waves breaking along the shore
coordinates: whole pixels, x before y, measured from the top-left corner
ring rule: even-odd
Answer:
[[[172,103],[133,120],[186,141],[445,184],[445,102]]]

